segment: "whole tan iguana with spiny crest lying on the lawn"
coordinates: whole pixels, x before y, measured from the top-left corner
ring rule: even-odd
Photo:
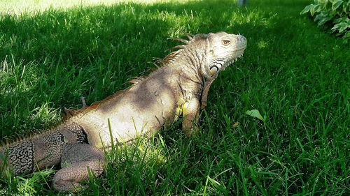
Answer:
[[[186,36],[188,40],[176,38],[184,44],[161,59],[160,68],[135,78],[127,89],[73,112],[44,133],[1,146],[0,167],[24,174],[60,165],[53,187],[76,190],[89,171],[102,174],[102,149],[111,146],[111,135],[118,143],[153,135],[180,115],[186,135],[193,134],[211,83],[243,55],[246,38],[225,32]]]

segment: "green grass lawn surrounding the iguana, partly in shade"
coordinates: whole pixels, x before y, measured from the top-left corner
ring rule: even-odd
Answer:
[[[76,195],[347,195],[350,47],[299,14],[309,3],[0,8],[1,137],[59,123],[81,96],[90,104],[124,89],[176,45],[169,37],[241,33],[244,57],[212,85],[199,135],[175,124],[119,146]],[[245,115],[253,109],[265,122]],[[56,195],[52,175],[6,176],[0,195]]]

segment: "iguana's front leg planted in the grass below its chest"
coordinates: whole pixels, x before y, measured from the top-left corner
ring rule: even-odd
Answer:
[[[197,129],[197,123],[200,113],[200,101],[197,98],[192,98],[183,104],[183,121],[182,130],[187,135],[192,135]]]

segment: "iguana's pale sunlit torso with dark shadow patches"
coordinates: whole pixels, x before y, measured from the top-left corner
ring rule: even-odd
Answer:
[[[179,68],[164,66],[123,92],[87,107],[69,121],[82,126],[89,144],[97,147],[102,147],[102,142],[104,146],[111,143],[108,119],[115,142],[152,135],[179,116],[185,101],[179,86]],[[197,85],[195,91],[200,88]]]

